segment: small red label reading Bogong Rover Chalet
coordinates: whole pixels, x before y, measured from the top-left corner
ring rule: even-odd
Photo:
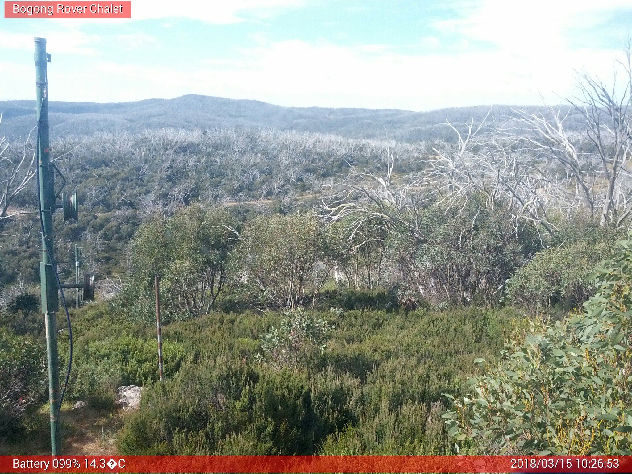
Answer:
[[[131,1],[4,1],[4,18],[131,18]]]

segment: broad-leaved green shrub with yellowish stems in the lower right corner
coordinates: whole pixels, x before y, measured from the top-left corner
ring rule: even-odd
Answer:
[[[447,395],[450,435],[487,454],[632,454],[632,241],[620,245],[585,312],[528,320],[469,396]]]

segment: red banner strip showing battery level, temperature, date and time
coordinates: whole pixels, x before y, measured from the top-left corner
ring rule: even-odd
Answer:
[[[632,456],[0,456],[3,473],[624,473]]]

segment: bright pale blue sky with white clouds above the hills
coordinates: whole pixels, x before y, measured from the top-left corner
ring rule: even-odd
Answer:
[[[105,3],[105,2],[104,2]],[[108,2],[109,4],[109,2]],[[559,104],[610,83],[632,0],[132,0],[132,18],[0,18],[0,100],[204,94],[281,106],[427,111]]]

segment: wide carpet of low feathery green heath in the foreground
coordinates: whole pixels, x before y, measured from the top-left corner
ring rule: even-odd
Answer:
[[[253,363],[255,338],[286,315],[211,313],[175,322],[163,336],[187,358],[177,374],[143,391],[140,410],[125,418],[119,451],[449,453],[441,393],[461,393],[476,354],[492,357],[502,347],[516,313],[310,312],[335,329],[322,356],[298,371]]]

